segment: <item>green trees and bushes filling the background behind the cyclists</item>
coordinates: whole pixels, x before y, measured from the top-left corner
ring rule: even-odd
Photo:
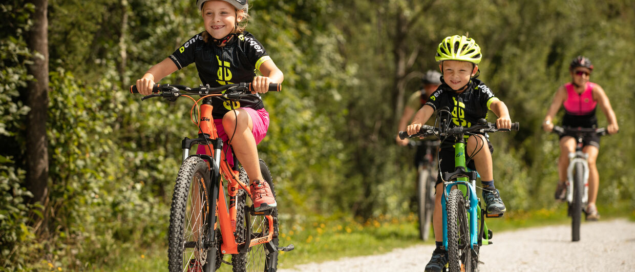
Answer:
[[[602,140],[600,212],[624,207],[614,200],[635,207],[628,179],[635,172],[635,131],[628,126],[635,99],[628,78],[635,68],[632,1],[250,2],[247,30],[284,72],[283,92],[264,95],[271,125],[258,150],[274,174],[281,214],[288,216],[281,219],[289,226],[304,223],[305,215],[363,220],[413,211],[413,151],[394,144],[396,70],[436,69],[439,41],[466,32],[483,48],[481,79],[521,123],[519,132],[491,137],[497,187],[509,208],[553,208],[559,151],[540,122],[553,93],[570,80],[567,65],[576,55],[594,62],[591,79],[605,89],[621,125]],[[2,265],[91,269],[138,247],[164,246],[157,244],[166,236],[180,140],[195,136],[191,104],[140,102],[123,89],[203,30],[196,6],[187,0],[50,2],[48,236],[32,228],[32,207],[23,201],[30,194],[22,189],[29,109],[19,91],[32,79],[24,34],[33,8],[0,4],[7,18],[0,28],[0,256],[10,262]],[[199,79],[190,65],[161,83],[197,85]],[[405,85],[415,90],[419,82]],[[606,125],[601,111],[598,116]]]

